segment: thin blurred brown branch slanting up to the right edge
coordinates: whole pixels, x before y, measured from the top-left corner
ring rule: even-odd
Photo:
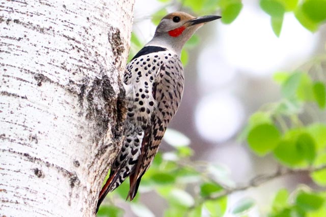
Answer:
[[[261,175],[255,176],[248,182],[248,184],[245,184],[245,185],[242,185],[239,187],[235,187],[235,188],[227,188],[227,189],[224,189],[223,191],[218,192],[216,194],[211,194],[210,196],[204,197],[204,198],[202,198],[201,201],[199,201],[195,206],[193,206],[191,208],[195,208],[196,206],[203,204],[207,200],[216,200],[216,199],[222,198],[224,196],[230,195],[234,192],[239,192],[239,191],[244,191],[244,190],[247,190],[250,188],[259,187],[260,185],[264,184],[267,181],[271,181],[273,179],[276,179],[276,178],[279,178],[282,176],[300,174],[300,173],[317,172],[317,171],[320,171],[323,169],[326,169],[326,165],[322,165],[319,167],[310,167],[310,168],[306,168],[306,169],[289,169],[289,168],[285,169],[285,168],[279,167],[278,170],[274,173],[261,174]]]

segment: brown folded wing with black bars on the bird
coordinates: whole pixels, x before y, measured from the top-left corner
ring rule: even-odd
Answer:
[[[177,55],[171,57],[160,66],[153,85],[153,95],[157,108],[152,113],[151,125],[145,129],[141,154],[135,173],[130,176],[128,197],[133,199],[143,174],[151,165],[159,144],[176,113],[183,94],[184,75],[181,61]]]

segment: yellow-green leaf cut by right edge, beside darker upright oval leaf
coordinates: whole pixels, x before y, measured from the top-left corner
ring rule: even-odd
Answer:
[[[326,148],[326,124],[313,123],[307,127],[307,131],[314,138],[317,150]]]

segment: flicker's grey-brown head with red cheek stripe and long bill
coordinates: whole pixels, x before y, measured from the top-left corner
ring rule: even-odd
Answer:
[[[181,52],[182,46],[196,30],[207,22],[220,19],[221,16],[194,17],[184,12],[173,12],[161,19],[155,30],[153,39],[161,40]]]

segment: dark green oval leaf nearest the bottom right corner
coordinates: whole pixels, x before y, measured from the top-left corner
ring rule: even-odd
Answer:
[[[319,209],[324,202],[324,199],[317,194],[300,192],[295,199],[298,207],[305,211],[312,211]]]

